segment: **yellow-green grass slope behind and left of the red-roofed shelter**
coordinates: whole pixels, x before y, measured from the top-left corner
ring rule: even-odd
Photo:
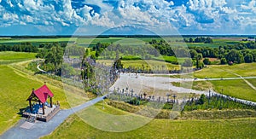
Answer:
[[[26,98],[31,94],[32,88],[38,89],[45,80],[32,78],[25,72],[20,72],[9,66],[0,66],[0,134],[20,119],[20,109],[26,108]],[[69,103],[66,94],[61,87],[48,84],[49,89],[55,94],[54,102],[60,101],[61,108],[68,108]],[[71,96],[67,92],[67,96]],[[73,100],[77,103],[84,101],[84,97],[73,94]]]

